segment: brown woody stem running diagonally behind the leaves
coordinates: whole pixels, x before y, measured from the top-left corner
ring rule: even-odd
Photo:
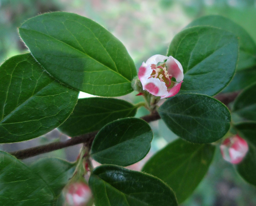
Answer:
[[[232,92],[232,93],[226,93],[226,94],[218,94],[215,96],[216,99],[221,101],[223,104],[228,105],[230,102],[234,101],[236,96],[239,92]],[[161,117],[159,114],[154,111],[153,113],[141,117],[141,119],[145,120],[146,122],[152,122],[154,120],[160,119]],[[19,150],[16,152],[12,152],[11,154],[17,157],[18,159],[25,159],[28,157],[33,157],[42,153],[51,152],[54,150],[59,150],[65,147],[73,146],[80,143],[87,143],[89,146],[91,145],[94,137],[98,131],[90,132],[84,135],[79,135],[76,137],[72,137],[71,139],[68,139],[64,142],[54,142],[45,144],[42,146],[32,147],[25,150]]]

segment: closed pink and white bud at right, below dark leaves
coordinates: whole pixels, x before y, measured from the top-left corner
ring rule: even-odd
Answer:
[[[220,146],[220,151],[224,160],[232,164],[238,164],[248,152],[248,144],[244,139],[236,135],[225,139]]]

